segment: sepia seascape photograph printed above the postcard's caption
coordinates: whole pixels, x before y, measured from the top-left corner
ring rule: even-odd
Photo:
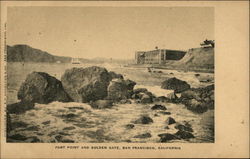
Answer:
[[[9,7],[7,142],[214,142],[213,7]]]

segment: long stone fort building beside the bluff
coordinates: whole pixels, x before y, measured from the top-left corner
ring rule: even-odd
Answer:
[[[167,60],[180,60],[185,54],[185,51],[167,49],[136,51],[135,60],[137,64],[164,64]]]

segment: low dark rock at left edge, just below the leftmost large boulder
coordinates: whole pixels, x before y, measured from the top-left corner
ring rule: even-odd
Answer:
[[[21,114],[35,107],[33,102],[21,101],[14,104],[7,105],[7,111],[10,114]]]

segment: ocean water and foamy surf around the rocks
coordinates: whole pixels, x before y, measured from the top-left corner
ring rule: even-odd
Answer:
[[[46,63],[8,63],[7,64],[7,103],[17,102],[17,91],[26,76],[33,71],[47,72],[60,79],[64,71],[72,67],[102,66],[108,71],[121,73],[125,78],[134,80],[136,88],[147,88],[157,96],[171,93],[160,88],[161,82],[169,77],[176,77],[187,81],[192,87],[203,87],[213,83],[211,73],[180,72],[175,70],[159,70],[149,73],[145,68],[123,67],[119,64],[46,64]],[[200,82],[200,78],[209,82]],[[35,109],[20,115],[11,115],[12,122],[17,126],[10,135],[20,134],[27,138],[35,137],[37,142],[159,142],[158,134],[175,133],[174,125],[165,129],[168,117],[177,122],[188,122],[194,130],[194,139],[172,140],[170,142],[214,142],[214,111],[203,114],[193,113],[181,104],[159,103],[166,106],[170,115],[151,110],[153,104],[116,104],[111,109],[92,109],[85,103],[36,104]],[[127,124],[141,115],[148,115],[153,119],[151,124],[134,124],[134,128],[126,128]],[[21,124],[20,123],[25,123]],[[150,138],[135,138],[134,136],[150,133]],[[30,142],[27,139],[24,142]]]

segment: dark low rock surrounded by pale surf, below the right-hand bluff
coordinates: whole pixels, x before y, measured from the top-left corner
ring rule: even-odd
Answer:
[[[173,77],[162,82],[161,88],[174,90],[175,93],[180,93],[190,89],[190,85],[185,81]]]

